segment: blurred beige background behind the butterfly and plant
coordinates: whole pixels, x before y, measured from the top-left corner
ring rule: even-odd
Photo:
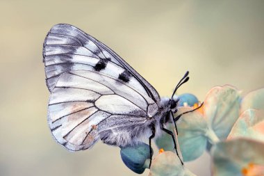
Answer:
[[[67,152],[47,126],[42,43],[73,24],[112,48],[161,96],[264,86],[264,1],[0,1],[0,175],[136,175],[118,147]],[[187,163],[210,175],[210,157]],[[148,175],[148,170],[143,175]]]

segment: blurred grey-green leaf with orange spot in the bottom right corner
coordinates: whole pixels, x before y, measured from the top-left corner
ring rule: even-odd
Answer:
[[[213,175],[262,175],[264,143],[249,138],[236,138],[212,147]]]

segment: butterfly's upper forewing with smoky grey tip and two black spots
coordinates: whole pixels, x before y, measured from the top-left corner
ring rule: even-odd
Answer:
[[[141,93],[149,95],[154,102],[160,97],[153,86],[135,72],[133,68],[119,57],[113,50],[106,47],[92,36],[84,33],[69,24],[56,24],[49,31],[43,47],[43,57],[47,77],[47,86],[51,91],[56,84],[58,76],[70,70],[90,70],[89,65],[100,61],[115,63],[124,70],[129,71]],[[97,63],[96,63],[97,62]],[[111,76],[113,70],[108,73]]]

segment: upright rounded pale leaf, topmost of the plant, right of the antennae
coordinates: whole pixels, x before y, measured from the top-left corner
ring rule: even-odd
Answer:
[[[239,116],[240,94],[232,86],[212,88],[204,101],[204,117],[215,134],[224,140]]]

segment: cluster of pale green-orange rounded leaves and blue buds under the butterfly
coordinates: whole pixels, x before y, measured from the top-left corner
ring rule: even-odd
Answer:
[[[212,157],[213,175],[264,175],[264,88],[245,97],[240,94],[233,86],[214,87],[207,93],[200,109],[181,117],[177,127],[183,161],[197,159],[207,151]],[[181,107],[177,114],[199,105],[194,95],[179,97]],[[174,125],[168,128],[173,130]],[[121,150],[124,163],[135,173],[142,173],[149,166],[149,145],[144,144],[145,154],[140,150],[142,145],[133,147],[131,156],[142,154],[137,161],[133,161],[135,157],[125,158],[126,149]],[[194,175],[176,157],[170,136],[163,134],[156,140],[156,145],[165,152],[153,159],[149,176]]]

